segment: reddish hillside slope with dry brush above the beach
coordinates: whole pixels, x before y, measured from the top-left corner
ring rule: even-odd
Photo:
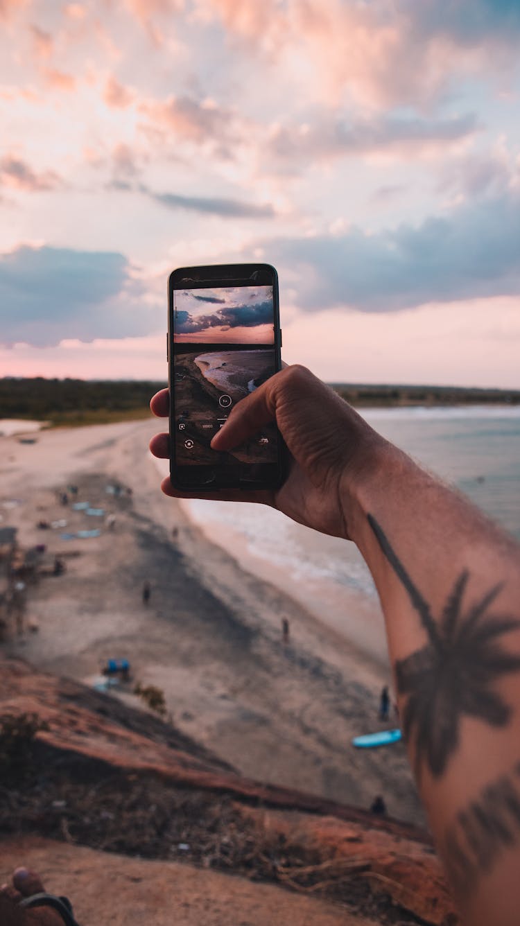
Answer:
[[[48,728],[15,746],[6,748],[4,738],[2,749],[0,741],[3,869],[11,859],[23,861],[19,853],[59,855],[44,838],[96,853],[183,862],[183,870],[195,865],[201,895],[206,880],[211,895],[214,871],[283,885],[326,904],[316,907],[313,923],[335,922],[320,919],[332,916],[335,904],[343,910],[338,922],[457,922],[424,832],[243,778],[170,724],[19,659],[1,663],[0,715],[36,715]],[[19,728],[23,732],[23,720]],[[77,885],[82,866],[103,867],[97,855],[82,852],[68,856],[75,859]],[[70,883],[70,863],[61,858]],[[120,871],[126,862],[107,864]],[[133,861],[133,879],[141,865],[146,870]],[[168,870],[161,872],[163,878]],[[236,883],[240,895],[243,882]],[[70,893],[81,907],[78,888],[72,885]],[[96,901],[102,920],[102,895]],[[260,914],[252,921],[267,923]]]

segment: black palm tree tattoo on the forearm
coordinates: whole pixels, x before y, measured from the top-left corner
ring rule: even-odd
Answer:
[[[428,635],[422,649],[396,662],[396,679],[399,693],[408,696],[402,732],[407,742],[414,737],[415,773],[419,777],[424,759],[438,778],[459,745],[464,714],[493,727],[503,727],[510,720],[512,708],[492,685],[505,672],[520,669],[520,655],[508,653],[500,640],[504,633],[520,627],[520,620],[489,612],[502,583],[464,610],[469,578],[464,569],[436,622],[386,534],[372,515],[368,520]]]

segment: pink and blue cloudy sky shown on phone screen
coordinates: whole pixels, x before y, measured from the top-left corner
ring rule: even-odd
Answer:
[[[273,344],[273,286],[174,290],[173,341]]]

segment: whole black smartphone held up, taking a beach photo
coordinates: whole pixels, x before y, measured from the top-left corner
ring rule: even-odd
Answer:
[[[276,270],[269,264],[176,269],[168,302],[172,485],[276,488],[284,478],[284,444],[274,423],[226,453],[209,446],[236,403],[282,367]]]

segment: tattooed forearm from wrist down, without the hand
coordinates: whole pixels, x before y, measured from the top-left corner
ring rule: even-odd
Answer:
[[[512,926],[520,903],[519,549],[383,441],[354,484],[347,474],[348,532],[380,595],[402,728],[439,851],[467,922]]]

